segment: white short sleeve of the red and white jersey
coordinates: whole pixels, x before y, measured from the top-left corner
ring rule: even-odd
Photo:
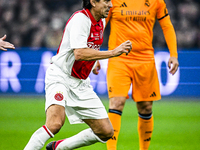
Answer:
[[[83,13],[75,14],[70,20],[70,47],[86,48],[91,28],[90,19]]]

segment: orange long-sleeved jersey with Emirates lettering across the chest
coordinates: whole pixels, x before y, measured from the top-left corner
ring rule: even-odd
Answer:
[[[109,50],[126,40],[132,42],[132,50],[128,57],[123,54],[114,59],[153,60],[152,40],[156,19],[159,23],[165,20],[164,23],[160,23],[162,29],[167,29],[167,32],[173,34],[172,39],[170,39],[172,36],[165,36],[165,39],[171,56],[177,57],[175,32],[164,0],[112,0],[112,4],[113,7],[106,18],[107,23],[110,21]],[[164,35],[167,35],[167,32],[163,31]]]

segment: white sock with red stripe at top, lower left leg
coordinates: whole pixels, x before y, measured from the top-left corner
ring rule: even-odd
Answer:
[[[46,126],[42,126],[33,133],[24,150],[40,150],[51,137],[54,137],[53,133]]]

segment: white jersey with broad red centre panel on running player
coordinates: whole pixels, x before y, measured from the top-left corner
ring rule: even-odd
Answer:
[[[66,74],[86,79],[95,61],[76,61],[73,50],[87,47],[99,50],[104,28],[105,19],[97,22],[88,9],[75,12],[66,23],[57,54],[51,62]]]

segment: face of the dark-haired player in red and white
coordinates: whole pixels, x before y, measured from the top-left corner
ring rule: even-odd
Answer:
[[[99,2],[96,2],[94,8],[100,18],[106,18],[108,17],[108,13],[111,7],[111,0],[100,0]]]

